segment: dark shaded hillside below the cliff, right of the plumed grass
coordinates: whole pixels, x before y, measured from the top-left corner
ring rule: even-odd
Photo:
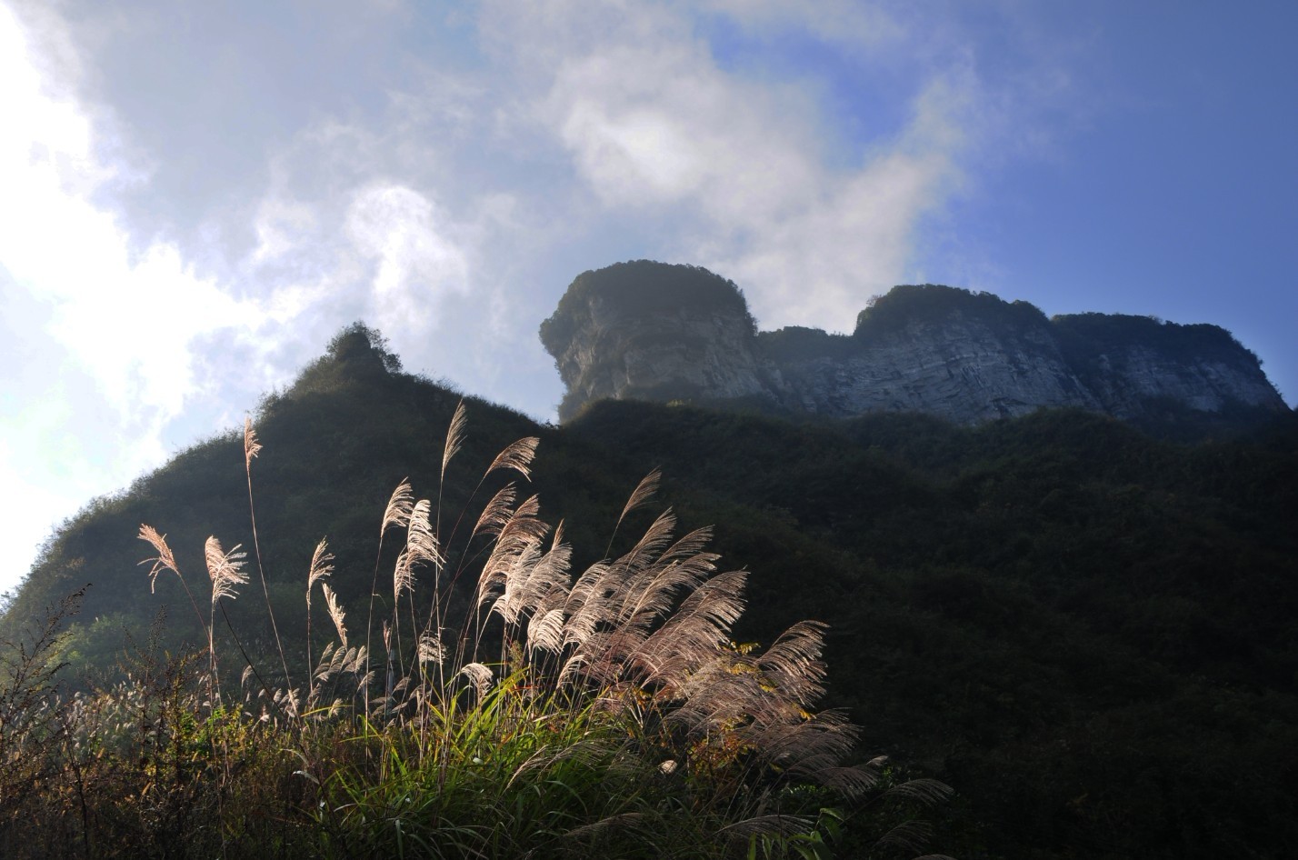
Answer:
[[[1084,412],[602,403],[570,430],[731,505],[749,617],[832,625],[833,700],[967,800],[953,854],[1298,847],[1298,427],[1188,446]]]

